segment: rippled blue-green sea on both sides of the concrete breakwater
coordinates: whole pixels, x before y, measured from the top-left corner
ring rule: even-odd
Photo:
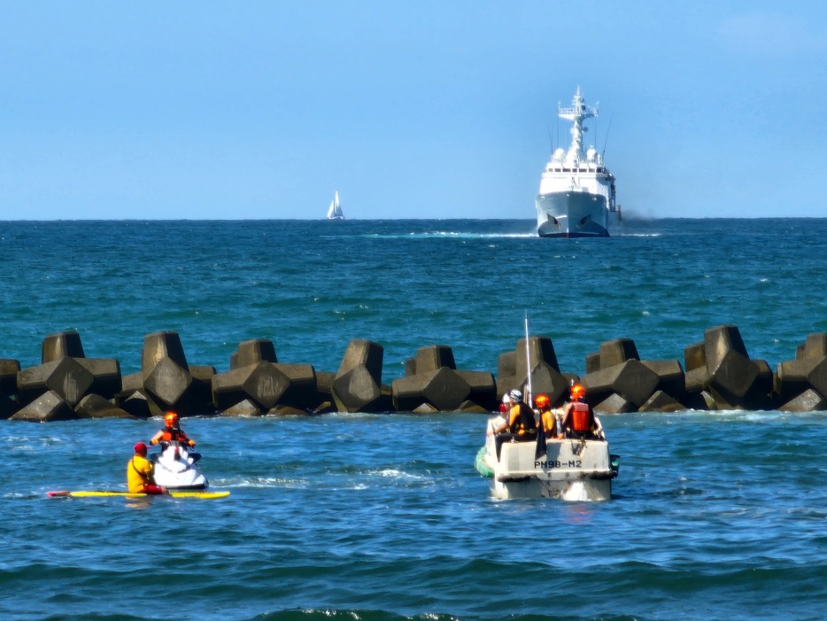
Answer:
[[[0,222],[0,358],[140,368],[177,331],[190,364],[240,341],[336,371],[425,345],[496,373],[523,322],[564,372],[633,338],[676,359],[737,325],[775,368],[827,331],[827,219],[626,221],[552,240],[532,221]],[[186,418],[217,501],[48,499],[123,489],[159,420],[0,421],[2,619],[823,619],[827,414],[604,416],[607,502],[493,501],[485,415]]]

